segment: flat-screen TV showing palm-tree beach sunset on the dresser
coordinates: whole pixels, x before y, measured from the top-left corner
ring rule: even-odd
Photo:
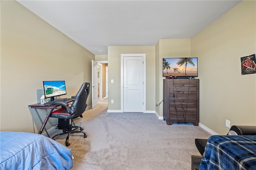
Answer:
[[[164,58],[163,76],[198,76],[197,58]]]

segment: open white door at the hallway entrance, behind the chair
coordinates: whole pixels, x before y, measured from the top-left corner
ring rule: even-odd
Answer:
[[[98,104],[98,63],[92,60],[92,108]]]

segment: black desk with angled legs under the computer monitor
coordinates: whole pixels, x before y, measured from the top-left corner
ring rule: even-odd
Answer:
[[[67,103],[70,103],[70,102],[73,102],[74,100],[75,100],[75,99],[69,99],[69,100],[67,100],[66,102],[67,102]],[[52,111],[53,111],[54,109],[56,109],[58,106],[61,106],[61,105],[60,105],[60,104],[55,104],[55,105],[51,105],[51,106],[46,106],[46,105],[40,104],[40,103],[29,105],[29,107],[35,109],[36,114],[38,115],[38,117],[39,117],[39,119],[40,119],[40,121],[41,121],[41,123],[42,123],[42,127],[41,127],[41,129],[40,129],[40,131],[39,131],[39,134],[42,134],[42,131],[45,130],[47,136],[50,137],[50,135],[48,134],[48,132],[47,132],[47,130],[46,130],[46,128],[45,128],[45,125],[46,125],[46,123],[47,123],[47,121],[48,121],[50,115],[52,114]],[[42,121],[42,119],[41,119],[41,117],[40,117],[40,115],[39,115],[37,109],[50,109],[50,110],[48,111],[47,115],[46,115],[46,118],[44,119],[44,122]]]

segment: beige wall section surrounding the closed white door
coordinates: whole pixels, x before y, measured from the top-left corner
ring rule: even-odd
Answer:
[[[120,110],[121,54],[146,54],[146,111],[155,110],[156,74],[154,46],[111,46],[108,47],[108,109]],[[111,104],[114,100],[114,104]]]

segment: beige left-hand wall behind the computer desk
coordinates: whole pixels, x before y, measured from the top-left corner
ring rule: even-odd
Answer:
[[[91,82],[94,55],[18,2],[0,3],[0,130],[37,133],[41,123],[28,105],[40,102],[42,81],[65,80],[63,97],[74,96],[83,82]],[[45,117],[46,110],[39,113]],[[57,119],[50,122],[56,125]]]

